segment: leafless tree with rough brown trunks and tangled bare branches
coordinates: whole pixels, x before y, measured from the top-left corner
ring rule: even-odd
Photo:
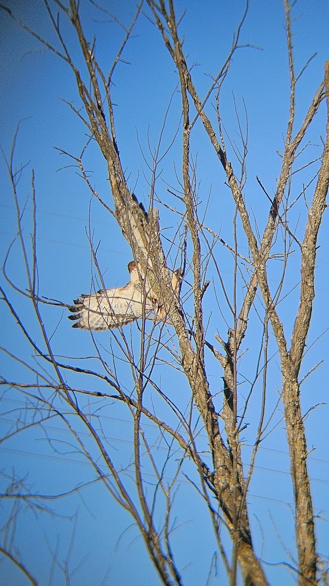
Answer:
[[[296,74],[294,69],[292,6],[285,0],[290,72],[289,120],[284,151],[280,155],[280,175],[273,195],[269,195],[262,180],[258,179],[259,190],[268,202],[267,220],[261,232],[261,222],[257,217],[253,225],[245,197],[247,127],[236,108],[239,142],[235,142],[225,132],[221,108],[222,85],[224,81],[226,83],[234,54],[241,48],[241,29],[248,6],[225,63],[218,70],[217,76],[211,79],[207,94],[201,97],[193,81],[193,70],[187,65],[179,34],[181,17],[177,18],[172,0],[167,3],[162,0],[140,3],[131,26],[125,29],[124,41],[109,71],[101,69],[95,42],[88,42],[85,36],[78,2],[70,0],[69,5],[65,5],[56,0],[55,4],[60,18],[65,17],[73,26],[84,68],[69,49],[56,10],[53,11],[46,0],[44,2],[57,34],[56,45],[42,38],[35,30],[30,30],[24,23],[19,24],[64,60],[73,73],[81,106],[77,107],[73,103],[68,105],[85,125],[88,140],[80,155],[64,154],[84,178],[92,197],[97,198],[115,218],[131,247],[132,258],[139,263],[140,275],[145,277],[142,279],[144,288],[141,296],[144,307],[137,326],[129,329],[128,326],[118,325],[117,329],[107,334],[111,336],[107,342],[90,332],[95,352],[90,360],[91,367],[88,359],[81,363],[77,356],[60,359],[59,343],[56,342],[55,347],[45,325],[43,312],[49,306],[52,311],[60,312],[63,302],[43,298],[39,291],[36,215],[33,214],[30,248],[22,228],[18,180],[23,169],[15,171],[15,137],[8,171],[15,198],[18,239],[26,268],[27,286],[19,287],[11,278],[7,270],[9,250],[4,264],[6,282],[1,292],[6,308],[32,347],[36,364],[33,366],[19,355],[10,356],[28,374],[26,380],[2,379],[6,389],[9,387],[25,397],[15,429],[9,430],[3,439],[30,427],[42,427],[49,437],[47,423],[53,418],[60,420],[61,425],[70,431],[75,449],[89,462],[95,479],[104,483],[109,497],[132,516],[159,579],[166,585],[186,583],[182,568],[177,563],[172,519],[176,487],[182,475],[186,474],[200,502],[207,506],[217,554],[229,584],[234,586],[242,580],[245,586],[256,586],[269,584],[269,581],[252,538],[248,493],[259,446],[268,437],[270,429],[280,421],[278,413],[281,409],[289,447],[297,550],[297,559],[286,564],[290,570],[294,570],[300,586],[319,584],[325,578],[321,574],[321,559],[317,553],[313,501],[307,471],[306,431],[300,405],[300,369],[314,304],[318,231],[323,220],[329,184],[328,114],[327,127],[323,130],[325,138],[321,157],[318,161],[309,159],[301,168],[296,159],[307,147],[307,132],[321,103],[329,111],[329,64],[325,64],[324,79],[315,91],[303,121],[297,122],[295,90],[303,71]],[[2,9],[16,19],[9,8],[2,6]],[[177,161],[175,166],[176,183],[173,185],[167,182],[166,197],[160,195],[161,190],[157,187],[162,158],[160,137],[158,147],[150,151],[152,161],[148,163],[150,180],[147,213],[139,203],[138,193],[135,196],[129,188],[120,154],[120,137],[116,132],[112,97],[116,67],[122,59],[136,21],[142,18],[142,11],[156,26],[165,43],[178,74],[181,96],[181,123],[177,121],[176,136],[173,136],[173,140],[180,137],[182,148],[181,162]],[[208,227],[206,214],[200,211],[198,167],[192,141],[194,132],[200,132],[201,125],[232,198],[232,215],[227,220],[232,226],[231,242],[222,240],[219,230],[216,232]],[[97,144],[107,165],[114,209],[108,203],[109,193],[101,196],[85,169],[85,153],[94,144]],[[300,174],[311,165],[314,169],[316,166],[313,179],[308,182],[300,180]],[[296,176],[297,185],[304,182],[300,192],[294,187]],[[34,177],[32,192],[35,210]],[[159,206],[166,208],[174,226],[169,239],[165,238],[163,226],[160,226]],[[306,217],[301,237],[300,230],[297,233],[293,227],[300,213]],[[94,263],[92,293],[94,287],[97,288],[97,282],[101,289],[106,289],[107,285],[98,264],[92,229],[89,239]],[[246,247],[248,253],[243,254],[242,250]],[[231,283],[223,276],[221,258],[224,251],[231,258]],[[279,304],[286,295],[285,279],[290,263],[296,263],[296,258],[300,263],[300,300],[289,342]],[[276,263],[277,266],[278,262],[281,268],[280,271],[275,269],[273,286],[272,265]],[[177,267],[182,267],[180,297],[171,276]],[[208,274],[211,274],[213,282],[208,280]],[[112,287],[112,284],[109,286]],[[11,288],[13,294],[18,293],[32,304],[39,326],[37,336],[30,332],[24,315],[12,301],[9,293]],[[204,299],[208,294],[214,299],[211,314],[204,309]],[[146,311],[149,298],[152,298],[153,319],[149,319],[149,312]],[[208,338],[207,328],[210,321],[218,321],[216,304],[218,312],[225,314],[228,333],[217,333],[217,343],[214,343],[214,340]],[[222,309],[224,304],[225,310]],[[66,306],[70,306],[69,300]],[[252,315],[261,324],[259,337],[252,332]],[[67,328],[67,324],[61,325],[62,332],[64,328]],[[245,380],[249,380],[249,391],[245,394],[241,393],[239,386],[244,377],[244,360],[248,360],[244,356],[244,340],[247,336],[249,345],[253,343],[258,348],[258,358],[253,365],[253,380],[245,377]],[[276,406],[269,412],[266,400],[272,383],[269,383],[268,370],[274,354],[279,361],[282,380]],[[124,363],[124,369],[120,361]],[[170,389],[164,390],[160,384],[157,375],[159,364],[163,365],[165,372],[171,373],[169,376],[172,380],[177,380],[177,387],[187,384],[189,401],[184,409],[180,401],[172,396]],[[209,364],[217,373],[212,383],[208,374]],[[261,394],[259,418],[254,430],[251,456],[246,465],[242,440],[255,389]],[[156,401],[153,401],[154,396],[157,397]],[[131,421],[133,459],[127,468],[116,464],[115,454],[111,453],[111,445],[107,442],[102,408],[110,401],[121,406],[122,417],[129,414]],[[81,430],[87,430],[88,440],[84,439]],[[49,442],[52,444],[50,437]],[[155,448],[157,444],[166,448],[162,454]],[[147,479],[150,472],[156,479],[152,488]],[[170,481],[166,478],[167,473]],[[10,496],[11,499],[33,502],[33,506],[37,506],[42,496],[33,497],[28,490],[22,490],[22,486],[16,486],[14,481],[11,480],[12,489],[6,498]],[[4,539],[2,553],[20,567],[32,584],[37,584],[25,564],[20,562],[8,537]]]

